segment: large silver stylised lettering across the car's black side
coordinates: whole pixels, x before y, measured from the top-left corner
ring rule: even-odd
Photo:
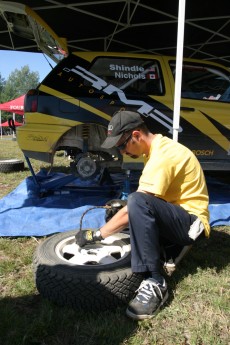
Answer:
[[[104,92],[107,95],[111,95],[113,93],[117,94],[118,98],[122,103],[125,105],[135,105],[135,106],[140,106],[137,111],[145,116],[145,117],[151,117],[155,121],[161,123],[164,127],[168,128],[169,133],[173,132],[173,120],[170,119],[168,116],[164,115],[161,111],[155,109],[152,105],[148,104],[145,101],[142,100],[134,100],[134,99],[128,99],[125,95],[125,92],[121,90],[120,88],[108,84],[105,80],[102,78],[98,77],[97,75],[89,72],[85,68],[81,66],[75,66],[75,68],[67,68],[64,67],[63,71],[67,73],[75,73],[82,77],[83,79],[87,80],[89,83],[91,83],[92,87],[95,89]],[[179,127],[179,132],[182,132],[182,127]]]

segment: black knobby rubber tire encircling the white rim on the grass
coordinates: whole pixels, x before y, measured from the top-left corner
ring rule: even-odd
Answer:
[[[40,294],[55,304],[78,310],[108,310],[126,304],[143,279],[131,272],[130,254],[110,264],[69,263],[57,255],[57,248],[64,241],[73,241],[76,232],[54,235],[38,246],[34,271]],[[128,245],[129,239],[118,242]]]

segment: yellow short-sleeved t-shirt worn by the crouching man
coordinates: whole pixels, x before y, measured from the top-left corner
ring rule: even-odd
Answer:
[[[208,190],[196,156],[185,146],[163,137],[153,139],[139,180],[139,189],[183,207],[200,218],[209,237]]]

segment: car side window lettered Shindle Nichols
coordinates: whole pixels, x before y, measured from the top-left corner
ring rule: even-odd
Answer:
[[[161,68],[157,60],[98,57],[89,71],[126,93],[164,94]]]

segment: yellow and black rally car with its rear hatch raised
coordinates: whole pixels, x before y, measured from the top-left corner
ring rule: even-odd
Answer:
[[[101,143],[108,122],[120,109],[138,111],[154,133],[172,137],[175,57],[68,54],[65,42],[40,17],[25,6],[20,11],[30,16],[31,35],[35,22],[41,29],[38,45],[55,61],[57,55],[64,57],[25,97],[25,125],[17,129],[25,156],[52,163],[54,153],[65,150],[84,177],[103,166],[141,168],[141,161],[123,162],[116,149],[103,150]],[[17,20],[8,18],[12,30],[18,29]],[[179,142],[195,153],[204,170],[230,170],[229,69],[184,59],[182,76]]]

